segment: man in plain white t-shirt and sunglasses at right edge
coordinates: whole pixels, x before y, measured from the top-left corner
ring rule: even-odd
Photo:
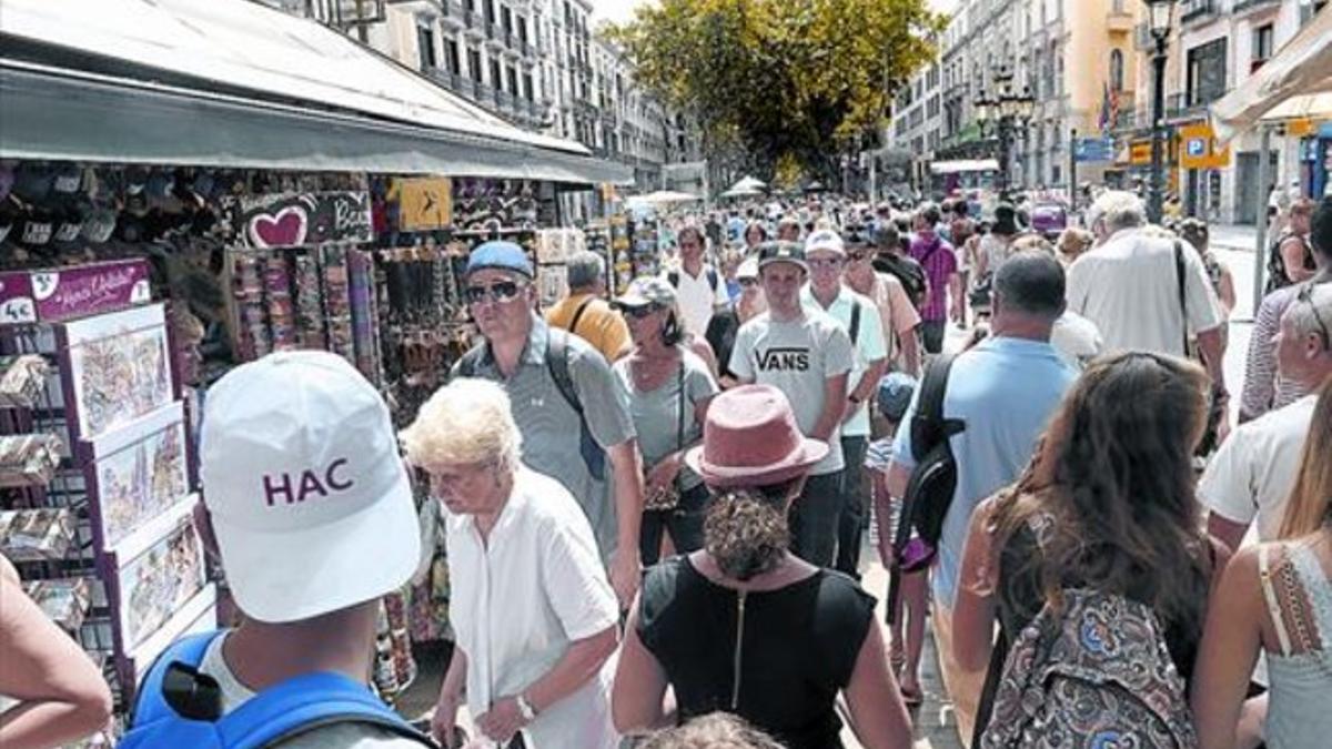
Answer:
[[[1309,394],[1239,425],[1197,485],[1199,498],[1211,510],[1208,532],[1232,549],[1255,520],[1260,541],[1277,537],[1313,420],[1315,390],[1332,377],[1332,284],[1297,287],[1281,316],[1276,359],[1281,378]]]

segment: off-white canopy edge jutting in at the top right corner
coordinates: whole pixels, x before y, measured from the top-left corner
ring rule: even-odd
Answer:
[[[1260,120],[1332,117],[1332,11],[1321,11],[1243,85],[1211,107],[1216,139],[1228,141]]]

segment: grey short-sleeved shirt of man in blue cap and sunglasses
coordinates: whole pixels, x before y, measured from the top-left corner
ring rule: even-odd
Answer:
[[[610,448],[634,438],[629,416],[629,397],[603,357],[587,341],[569,336],[569,378],[587,420],[587,429],[598,445]],[[518,371],[505,377],[496,365],[488,345],[477,365],[476,376],[503,385],[513,406],[513,418],[522,433],[522,461],[537,473],[545,473],[565,485],[587,514],[597,546],[603,560],[615,550],[615,502],[611,501],[611,465],[606,461],[606,480],[598,481],[583,461],[578,412],[569,405],[546,365],[550,327],[533,315],[527,348]],[[458,376],[454,365],[453,376]]]

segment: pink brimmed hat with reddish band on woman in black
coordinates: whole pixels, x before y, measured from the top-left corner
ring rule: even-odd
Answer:
[[[713,398],[703,444],[685,462],[718,489],[770,486],[798,478],[829,454],[801,433],[791,402],[771,385],[741,385]]]

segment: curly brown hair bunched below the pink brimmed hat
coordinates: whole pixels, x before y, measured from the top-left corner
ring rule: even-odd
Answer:
[[[726,489],[703,517],[703,548],[727,577],[750,580],[777,568],[791,545],[786,505],[805,478]]]

